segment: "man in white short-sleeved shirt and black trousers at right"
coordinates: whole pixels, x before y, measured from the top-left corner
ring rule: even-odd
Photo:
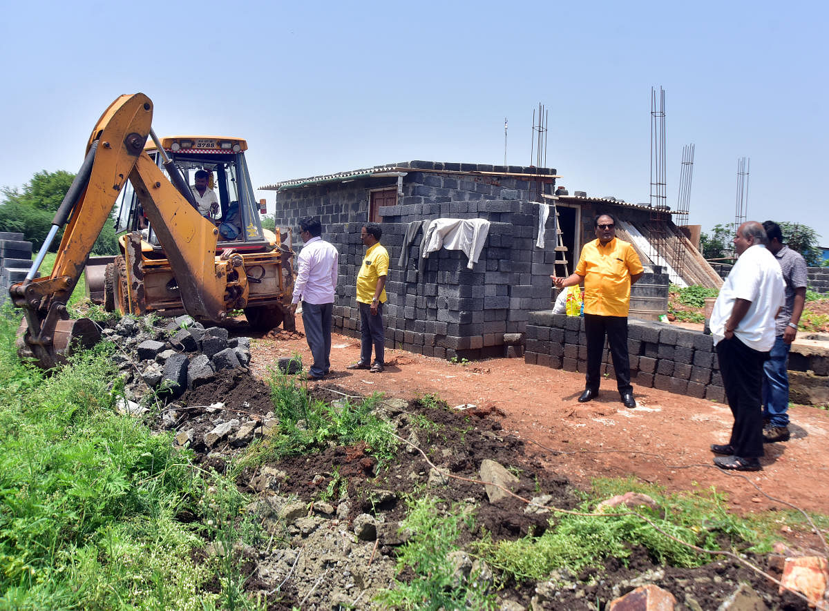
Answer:
[[[741,224],[734,263],[714,304],[710,327],[734,426],[728,444],[711,445],[720,469],[759,471],[763,452],[763,365],[774,345],[774,318],[784,303],[783,273],[768,251],[763,225]]]

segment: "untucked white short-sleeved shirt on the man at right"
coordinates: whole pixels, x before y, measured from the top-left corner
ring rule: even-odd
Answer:
[[[785,301],[785,284],[780,265],[763,245],[754,244],[739,256],[714,304],[711,335],[714,344],[725,337],[725,323],[738,299],[751,301],[749,311],[739,321],[734,335],[743,344],[759,352],[774,345],[774,316]]]

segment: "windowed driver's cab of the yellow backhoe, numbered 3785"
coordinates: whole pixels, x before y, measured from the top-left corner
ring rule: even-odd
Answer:
[[[259,219],[259,215],[264,214],[264,200],[263,204],[255,200],[245,162],[245,151],[248,148],[245,140],[213,136],[175,136],[162,138],[161,144],[187,185],[191,185],[191,189],[196,185],[196,173],[207,172],[206,189],[212,191],[218,202],[216,211],[208,213],[207,216],[218,229],[217,252],[225,248],[233,248],[237,252],[257,252],[273,248],[273,238],[267,235],[269,232],[263,232]],[[156,145],[150,141],[144,151],[167,176],[167,171],[162,166],[162,155]],[[209,195],[205,193],[202,197]],[[124,188],[121,198],[115,231],[140,231],[145,242],[153,246],[153,250],[161,250],[158,238],[143,214],[141,202],[129,183]]]

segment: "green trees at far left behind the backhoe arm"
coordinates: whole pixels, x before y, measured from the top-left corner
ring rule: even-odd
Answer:
[[[72,180],[75,175],[71,172],[43,170],[36,172],[22,190],[4,187],[0,190],[0,231],[22,233],[23,239],[32,242],[36,250],[40,249]],[[60,245],[61,235],[59,232],[51,243],[52,252],[56,252]],[[92,252],[118,254],[115,232],[109,221],[104,224]]]

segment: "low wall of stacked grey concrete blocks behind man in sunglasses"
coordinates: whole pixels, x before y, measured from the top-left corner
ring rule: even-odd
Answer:
[[[550,311],[531,312],[526,325],[526,363],[584,373],[586,346],[583,318]],[[687,397],[725,401],[710,335],[666,323],[630,319],[628,354],[634,387],[653,387]],[[606,345],[602,373],[615,379]]]

